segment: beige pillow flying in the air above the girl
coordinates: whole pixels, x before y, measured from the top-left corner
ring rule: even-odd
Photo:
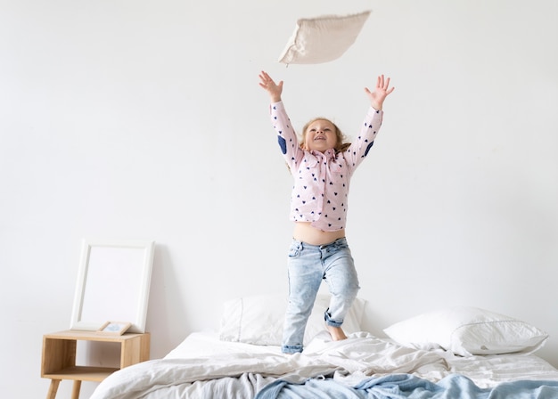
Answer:
[[[355,43],[370,11],[297,20],[279,62],[316,64],[341,57]]]

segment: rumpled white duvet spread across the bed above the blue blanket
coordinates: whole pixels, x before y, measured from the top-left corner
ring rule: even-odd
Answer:
[[[352,385],[390,373],[438,381],[455,372],[480,387],[516,379],[558,380],[558,371],[534,355],[461,358],[441,350],[399,346],[365,332],[337,342],[320,334],[302,354],[291,355],[281,354],[276,346],[223,343],[193,334],[164,359],[115,372],[97,387],[92,399],[247,399],[275,379],[301,382],[333,376]]]

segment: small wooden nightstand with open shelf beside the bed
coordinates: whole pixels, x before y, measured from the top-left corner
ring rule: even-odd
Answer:
[[[120,367],[91,367],[76,365],[78,341],[118,342]],[[67,330],[43,336],[41,377],[51,379],[46,399],[54,399],[62,379],[73,379],[72,399],[78,399],[81,381],[103,381],[114,371],[149,360],[150,334],[108,335],[96,331]]]

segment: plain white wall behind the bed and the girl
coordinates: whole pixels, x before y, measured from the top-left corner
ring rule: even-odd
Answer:
[[[340,60],[276,62],[297,18],[365,9]],[[284,292],[291,182],[260,69],[285,80],[296,126],[323,115],[348,134],[365,85],[397,87],[351,188],[369,330],[477,305],[547,330],[558,366],[557,15],[554,0],[1,2],[0,391],[46,394],[42,335],[69,326],[83,237],[157,240],[153,358],[217,328],[226,299]]]

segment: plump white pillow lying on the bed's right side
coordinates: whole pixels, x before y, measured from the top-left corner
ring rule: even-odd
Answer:
[[[418,349],[441,346],[462,356],[535,352],[548,334],[527,322],[476,307],[456,306],[419,314],[384,332],[399,344]]]

